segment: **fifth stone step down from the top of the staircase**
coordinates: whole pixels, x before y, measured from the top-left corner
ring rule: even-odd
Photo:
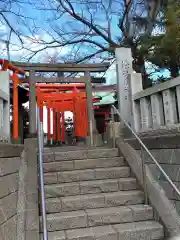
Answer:
[[[77,195],[46,199],[47,213],[58,213],[94,208],[115,207],[130,204],[142,204],[143,192],[138,190],[111,193]]]

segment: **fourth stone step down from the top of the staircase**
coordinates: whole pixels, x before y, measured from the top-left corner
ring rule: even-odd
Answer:
[[[135,178],[106,179],[45,185],[46,198],[137,189]]]

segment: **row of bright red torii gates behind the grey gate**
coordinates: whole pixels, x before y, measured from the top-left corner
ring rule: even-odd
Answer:
[[[53,141],[65,141],[64,112],[74,113],[75,136],[88,136],[88,114],[85,84],[36,84],[37,103],[40,108],[40,118],[43,122],[43,106],[47,107],[48,142],[51,141],[51,117],[53,110]],[[94,98],[93,102],[99,101]],[[61,118],[61,125],[60,125]]]

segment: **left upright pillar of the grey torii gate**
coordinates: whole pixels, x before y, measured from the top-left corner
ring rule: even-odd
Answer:
[[[33,70],[29,72],[29,134],[36,136],[36,83]]]

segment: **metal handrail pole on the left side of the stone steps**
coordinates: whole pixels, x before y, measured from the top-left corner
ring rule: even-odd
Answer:
[[[46,202],[44,191],[44,172],[43,172],[43,123],[40,122],[40,111],[37,108],[37,123],[38,123],[38,145],[39,145],[39,171],[40,171],[40,189],[41,189],[41,208],[42,208],[42,224],[43,224],[43,239],[48,240],[47,220],[46,220]]]

